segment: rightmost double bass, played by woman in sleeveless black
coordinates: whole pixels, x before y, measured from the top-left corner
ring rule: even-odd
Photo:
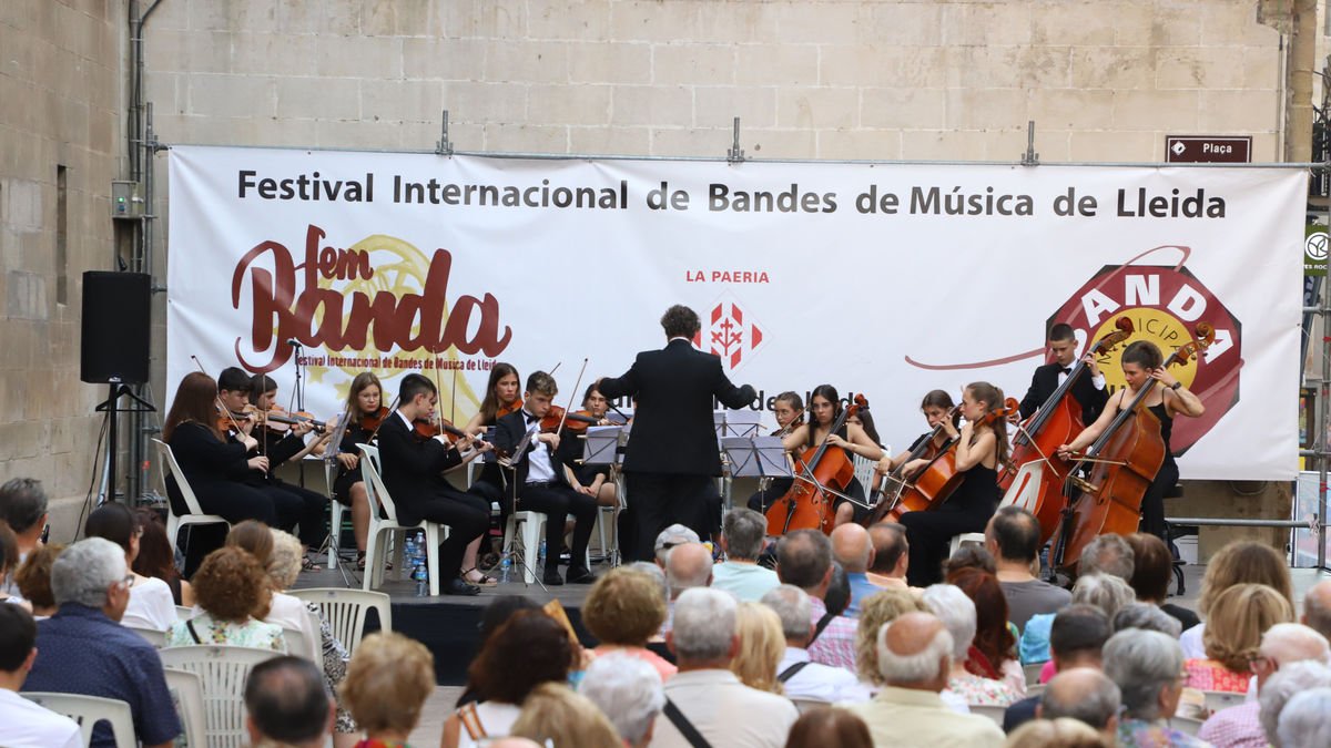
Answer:
[[[1187,363],[1214,342],[1215,329],[1207,322],[1198,322],[1193,339],[1171,353],[1161,367]],[[1159,418],[1142,405],[1155,383],[1155,379],[1147,379],[1127,407],[1119,409],[1105,433],[1073,465],[1065,491],[1070,496],[1073,491],[1079,491],[1079,495],[1065,502],[1062,508],[1062,522],[1054,531],[1049,552],[1051,568],[1075,568],[1086,544],[1105,532],[1127,535],[1137,531],[1142,496],[1165,463],[1169,447],[1161,435]],[[1085,480],[1077,476],[1083,465],[1093,465]]]

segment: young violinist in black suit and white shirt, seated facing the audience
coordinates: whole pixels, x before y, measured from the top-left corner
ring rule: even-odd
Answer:
[[[586,566],[587,542],[596,522],[596,500],[586,492],[574,490],[568,467],[555,459],[560,441],[558,430],[546,431],[540,425],[558,391],[554,377],[544,371],[532,371],[527,377],[522,410],[499,418],[495,427],[495,447],[512,454],[514,506],[546,515],[547,554],[542,582],[547,586],[563,584],[566,580],[570,584],[596,580]],[[515,450],[523,438],[528,441],[526,449],[518,454]],[[563,543],[564,519],[568,515],[575,520],[574,539],[570,547],[568,571],[560,578],[558,548]],[[528,554],[530,551],[531,548]]]

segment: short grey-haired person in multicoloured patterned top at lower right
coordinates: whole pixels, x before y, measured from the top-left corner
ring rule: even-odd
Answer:
[[[1103,661],[1105,675],[1123,693],[1123,715],[1118,723],[1122,748],[1206,745],[1169,724],[1187,677],[1183,650],[1175,639],[1158,631],[1121,631],[1105,643]]]

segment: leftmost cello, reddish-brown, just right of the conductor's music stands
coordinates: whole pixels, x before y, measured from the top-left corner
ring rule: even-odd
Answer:
[[[855,405],[841,411],[828,437],[845,426],[845,421],[861,410],[869,410],[864,395],[855,395]],[[831,535],[836,520],[832,499],[855,480],[855,463],[845,450],[828,450],[823,439],[816,447],[804,450],[795,458],[795,484],[767,510],[767,534],[785,535],[791,530],[821,530]]]

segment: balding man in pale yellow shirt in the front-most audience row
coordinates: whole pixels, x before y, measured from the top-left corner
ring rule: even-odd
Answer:
[[[849,704],[877,748],[1002,745],[1002,731],[977,715],[958,715],[938,697],[952,671],[953,642],[937,616],[908,612],[878,631],[878,669],[886,683],[866,704]]]

